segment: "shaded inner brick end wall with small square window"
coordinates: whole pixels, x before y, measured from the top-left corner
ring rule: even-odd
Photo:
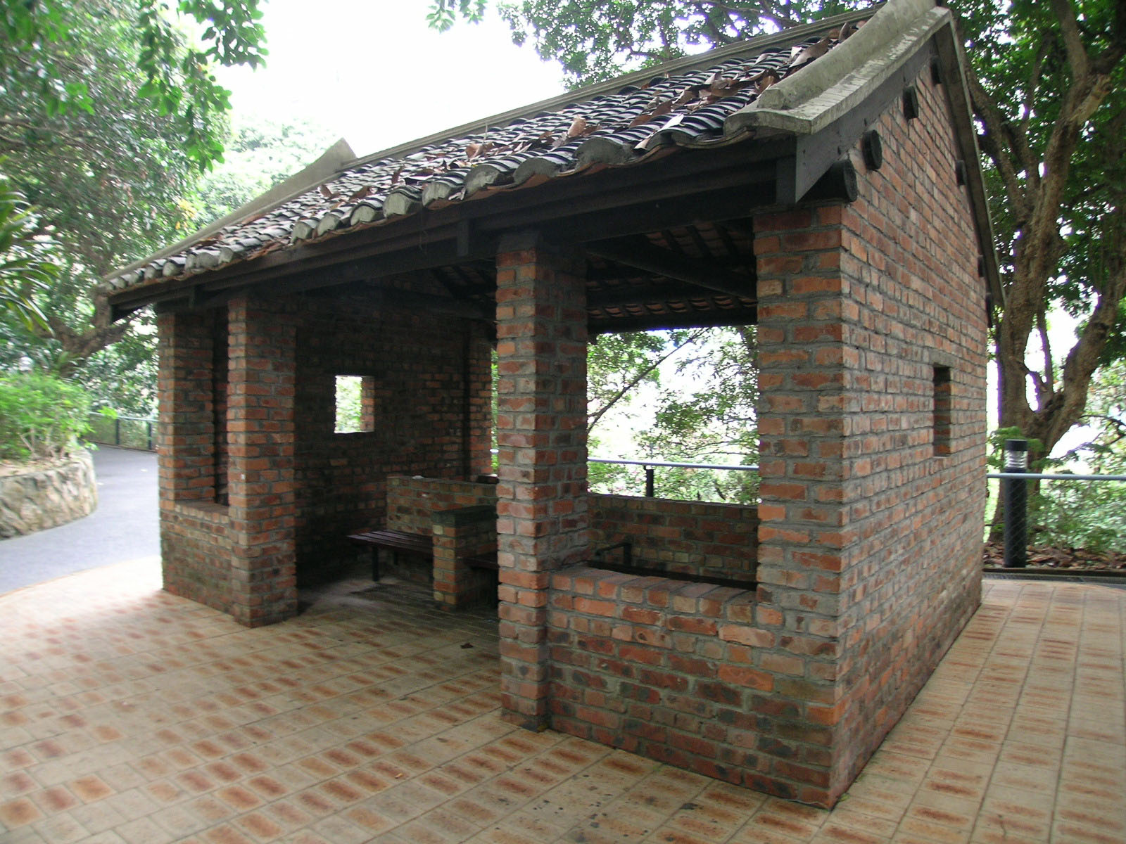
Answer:
[[[385,527],[388,475],[465,478],[490,469],[492,349],[480,324],[456,317],[364,299],[310,297],[302,307],[296,541],[304,583],[331,578],[338,563],[355,558],[348,533]],[[373,378],[370,432],[334,432],[337,375]]]

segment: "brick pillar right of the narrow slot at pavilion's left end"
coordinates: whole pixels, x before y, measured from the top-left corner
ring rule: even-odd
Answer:
[[[231,302],[229,330],[231,614],[259,627],[297,612],[296,331],[283,305],[247,298]]]

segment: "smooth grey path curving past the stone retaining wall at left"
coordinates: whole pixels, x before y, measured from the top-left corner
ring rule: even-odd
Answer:
[[[0,594],[113,563],[160,559],[157,456],[100,446],[98,509],[28,537],[0,540]]]

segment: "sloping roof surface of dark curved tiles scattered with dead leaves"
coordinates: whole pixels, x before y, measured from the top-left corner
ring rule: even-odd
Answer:
[[[405,154],[358,160],[322,183],[224,225],[179,252],[120,272],[108,279],[108,287],[118,291],[159,284],[502,190],[533,188],[605,167],[632,167],[670,150],[745,137],[729,117],[779,80],[819,61],[863,25],[859,20],[826,23],[821,30],[806,27],[799,39],[778,45],[774,38],[774,46],[766,48],[756,48],[762,39],[748,42],[745,53],[730,55],[727,48],[727,57],[711,66],[654,74],[586,99],[580,92],[578,101],[556,109],[427,143]]]

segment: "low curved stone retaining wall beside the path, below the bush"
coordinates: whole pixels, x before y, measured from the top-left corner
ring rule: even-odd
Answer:
[[[0,538],[65,524],[96,506],[98,487],[89,451],[52,469],[0,477]]]

